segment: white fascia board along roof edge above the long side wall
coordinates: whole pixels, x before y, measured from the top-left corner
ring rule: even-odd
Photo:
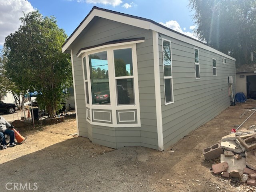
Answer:
[[[170,30],[167,30],[167,29],[165,29],[165,28],[162,28],[162,27],[160,27],[160,26],[157,26],[157,25],[155,25],[155,24],[152,24],[152,23],[151,23],[150,29],[153,30],[153,31],[157,31],[157,32],[159,32],[159,33],[161,33],[161,34],[170,36],[171,38],[174,38],[174,39],[177,39],[177,40],[186,42],[186,43],[188,43],[188,44],[192,44],[192,45],[194,45],[194,46],[196,46],[196,47],[198,47],[198,48],[203,48],[203,49],[205,49],[205,50],[214,52],[214,53],[216,53],[216,54],[219,54],[219,55],[224,56],[224,57],[226,57],[226,58],[229,58],[229,59],[231,59],[231,60],[234,60],[234,61],[236,60],[235,58],[232,58],[232,57],[230,57],[229,55],[226,55],[226,54],[224,54],[224,53],[222,53],[222,52],[220,52],[220,51],[218,51],[218,50],[216,50],[216,49],[214,49],[214,48],[212,48],[212,47],[209,47],[209,46],[207,46],[207,45],[205,45],[205,44],[202,44],[202,43],[200,43],[200,42],[198,42],[198,41],[196,41],[196,40],[187,38],[187,37],[185,37],[185,36],[182,36],[182,35],[180,35],[180,34],[177,34],[177,33],[175,33],[175,32],[172,32],[172,31],[170,31]]]

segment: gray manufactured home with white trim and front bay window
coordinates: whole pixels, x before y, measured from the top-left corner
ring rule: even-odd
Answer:
[[[230,106],[235,59],[149,19],[93,7],[62,51],[96,144],[164,150]]]

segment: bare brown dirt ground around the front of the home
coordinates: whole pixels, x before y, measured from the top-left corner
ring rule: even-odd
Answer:
[[[75,119],[33,128],[16,123],[27,140],[0,151],[0,192],[14,183],[31,184],[39,192],[246,192],[256,191],[211,173],[219,159],[206,161],[202,150],[240,125],[256,107],[256,100],[230,106],[220,115],[160,152],[144,147],[118,150],[92,144],[76,133]],[[240,128],[256,124],[256,113]],[[20,127],[19,127],[20,126]],[[7,186],[6,186],[7,185]],[[11,190],[8,190],[11,188]],[[26,190],[27,189],[27,190]],[[23,191],[31,191],[28,187]],[[22,191],[22,190],[21,190]]]

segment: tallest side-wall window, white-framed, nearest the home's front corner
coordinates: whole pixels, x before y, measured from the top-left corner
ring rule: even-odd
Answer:
[[[165,104],[173,103],[172,85],[172,51],[171,41],[162,40],[163,44],[163,67],[164,67],[164,96]]]

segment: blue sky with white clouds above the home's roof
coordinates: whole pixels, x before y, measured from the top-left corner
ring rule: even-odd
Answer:
[[[188,0],[0,0],[0,48],[4,38],[20,26],[22,12],[39,10],[43,16],[55,16],[70,36],[93,6],[148,18],[193,36]]]

